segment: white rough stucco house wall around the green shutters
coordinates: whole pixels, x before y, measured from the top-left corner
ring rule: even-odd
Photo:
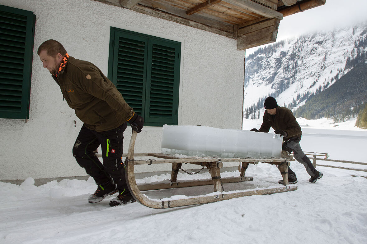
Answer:
[[[86,175],[72,156],[82,122],[37,55],[38,46],[48,39],[61,42],[69,55],[94,63],[105,75],[110,26],[180,41],[179,125],[241,128],[244,51],[236,50],[236,40],[92,0],[0,4],[37,16],[29,120],[0,119],[0,180]],[[124,136],[126,153],[130,126]],[[144,127],[135,152],[160,152],[161,136],[162,127]],[[139,166],[135,171],[169,167]]]

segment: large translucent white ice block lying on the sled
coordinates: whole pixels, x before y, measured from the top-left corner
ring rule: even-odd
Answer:
[[[221,158],[279,158],[279,135],[207,126],[163,125],[161,153]]]

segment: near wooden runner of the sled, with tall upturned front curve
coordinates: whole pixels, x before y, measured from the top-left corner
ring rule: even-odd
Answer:
[[[283,187],[253,189],[253,190],[233,191],[233,192],[216,191],[216,192],[213,192],[212,194],[207,194],[205,196],[193,196],[193,197],[188,197],[184,199],[174,199],[174,200],[164,200],[164,201],[150,199],[146,195],[143,195],[141,193],[136,183],[136,179],[135,179],[134,146],[135,146],[136,136],[137,136],[137,132],[133,131],[131,135],[128,154],[125,160],[125,166],[126,166],[125,176],[126,176],[127,187],[130,190],[132,196],[134,197],[135,200],[137,200],[137,202],[143,204],[144,206],[151,207],[153,209],[167,209],[171,207],[182,207],[182,206],[189,206],[189,205],[195,205],[195,204],[218,202],[222,200],[228,200],[231,198],[239,198],[242,196],[265,195],[265,194],[297,190],[297,185],[292,185],[292,186],[286,185]],[[213,182],[214,182],[214,179],[213,179]],[[214,187],[215,187],[215,182],[214,182]],[[215,187],[215,189],[218,189],[218,187],[217,188]]]

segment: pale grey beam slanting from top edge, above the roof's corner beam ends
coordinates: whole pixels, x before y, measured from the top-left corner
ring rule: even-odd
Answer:
[[[226,3],[235,5],[240,8],[244,8],[248,11],[254,12],[256,14],[259,14],[261,16],[267,17],[267,18],[277,18],[277,19],[283,19],[283,14],[272,10],[271,8],[265,7],[259,3],[255,3],[251,0],[222,0]]]

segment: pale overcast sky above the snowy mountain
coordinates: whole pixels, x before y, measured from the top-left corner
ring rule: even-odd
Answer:
[[[322,6],[284,17],[277,41],[315,31],[328,31],[367,21],[367,0],[326,0]],[[256,48],[246,50],[246,56]]]

